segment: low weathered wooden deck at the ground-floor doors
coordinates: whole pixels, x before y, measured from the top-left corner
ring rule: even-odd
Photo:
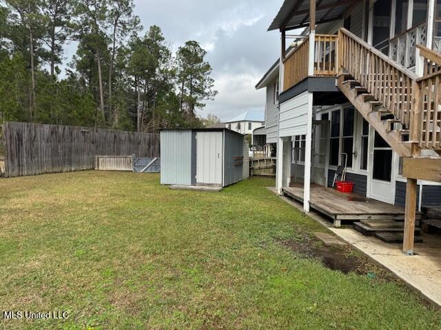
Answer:
[[[294,186],[283,188],[283,193],[303,202],[303,187]],[[310,206],[334,220],[334,225],[340,226],[340,221],[358,221],[362,219],[404,220],[404,208],[393,206],[382,201],[361,197],[354,193],[343,193],[333,188],[311,184]],[[417,214],[421,219],[421,214]]]

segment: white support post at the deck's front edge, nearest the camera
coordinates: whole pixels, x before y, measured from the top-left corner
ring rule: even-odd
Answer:
[[[303,210],[309,212],[311,199],[311,148],[312,148],[312,116],[314,93],[308,93],[307,133],[305,143],[305,176],[303,182]]]

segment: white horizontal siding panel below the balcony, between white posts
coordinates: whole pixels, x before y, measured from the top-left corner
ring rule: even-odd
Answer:
[[[306,134],[308,92],[280,104],[279,136]]]

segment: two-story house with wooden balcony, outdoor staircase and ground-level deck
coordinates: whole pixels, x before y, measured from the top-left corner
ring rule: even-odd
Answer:
[[[441,0],[286,0],[269,30],[280,31],[280,59],[256,88],[267,88],[278,192],[334,225],[402,217],[413,254],[417,211],[441,205]],[[339,165],[360,196],[336,201],[359,212],[340,219],[320,197]]]

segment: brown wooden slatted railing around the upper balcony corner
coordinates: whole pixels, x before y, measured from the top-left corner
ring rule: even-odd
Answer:
[[[316,34],[314,52],[314,76],[336,76],[336,34]],[[284,64],[283,89],[297,85],[308,76],[309,39],[303,41],[291,52]]]

